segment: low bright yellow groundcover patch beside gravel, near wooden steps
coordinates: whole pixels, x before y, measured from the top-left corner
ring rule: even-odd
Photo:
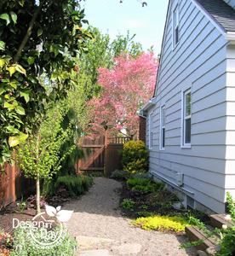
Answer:
[[[132,220],[136,226],[144,230],[175,230],[184,231],[186,226],[191,226],[185,218],[155,215],[153,217],[137,218]]]

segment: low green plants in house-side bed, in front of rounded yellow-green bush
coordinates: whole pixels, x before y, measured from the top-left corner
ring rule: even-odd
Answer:
[[[136,177],[134,179],[129,179],[127,185],[131,190],[140,190],[144,193],[164,188],[164,183],[152,183],[149,179],[140,179]]]

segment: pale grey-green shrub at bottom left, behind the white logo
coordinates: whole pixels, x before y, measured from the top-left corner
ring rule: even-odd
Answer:
[[[54,247],[35,247],[35,244],[28,239],[28,230],[25,227],[16,228],[14,230],[14,243],[13,250],[10,255],[17,256],[57,256],[57,255],[75,255],[75,250],[77,249],[77,241],[68,235],[66,230],[63,230],[64,235],[61,241],[54,245]],[[40,240],[41,229],[34,231],[37,239]],[[60,232],[60,228],[56,227],[54,232]],[[50,242],[50,241],[47,241]]]

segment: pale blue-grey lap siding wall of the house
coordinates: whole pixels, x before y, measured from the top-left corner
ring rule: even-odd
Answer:
[[[180,43],[173,49],[172,11],[176,3],[180,6]],[[214,212],[224,212],[225,188],[229,183],[225,170],[231,164],[226,160],[228,43],[191,0],[171,1],[166,22],[155,92],[157,104],[147,110],[146,119],[148,146],[148,118],[153,112],[150,172],[175,187],[176,173],[183,173],[182,193]],[[192,147],[181,148],[181,91],[187,86],[192,87]],[[159,110],[163,105],[166,140],[165,150],[160,150]]]

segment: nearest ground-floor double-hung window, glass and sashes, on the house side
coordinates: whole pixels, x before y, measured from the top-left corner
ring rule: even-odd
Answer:
[[[182,93],[182,146],[191,147],[191,89]]]

